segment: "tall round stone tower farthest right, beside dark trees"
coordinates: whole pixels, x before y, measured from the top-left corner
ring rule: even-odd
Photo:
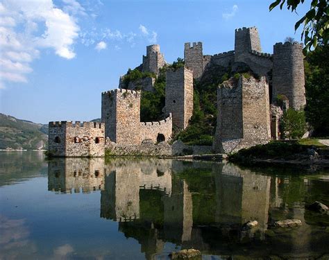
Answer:
[[[272,102],[279,94],[287,96],[289,107],[299,110],[304,107],[305,78],[303,44],[277,43],[273,48],[273,95]]]

